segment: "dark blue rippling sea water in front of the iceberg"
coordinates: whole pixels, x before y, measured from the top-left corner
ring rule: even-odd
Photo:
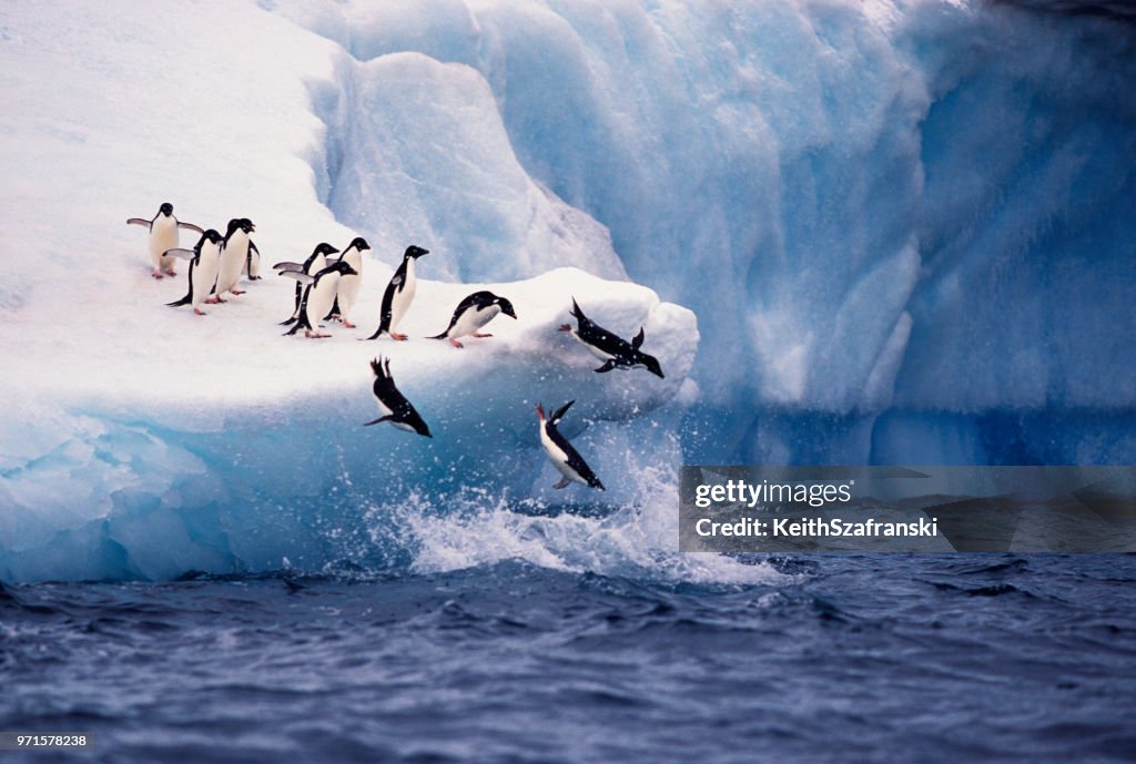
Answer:
[[[1136,761],[1136,556],[743,562],[7,586],[0,761]]]

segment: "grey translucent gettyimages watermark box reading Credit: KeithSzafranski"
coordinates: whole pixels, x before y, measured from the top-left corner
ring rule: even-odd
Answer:
[[[1136,552],[1131,467],[684,467],[684,552]]]

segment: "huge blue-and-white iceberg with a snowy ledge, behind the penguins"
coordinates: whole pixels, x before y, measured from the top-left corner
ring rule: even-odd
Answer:
[[[1136,54],[1106,18],[0,0],[0,67],[6,580],[494,555],[751,580],[673,553],[680,461],[1136,459]],[[270,274],[165,308],[184,282],[124,225],[161,201],[251,218],[266,265],[366,236],[359,329],[279,337]],[[410,243],[416,339],[356,342]],[[481,285],[521,320],[419,338]],[[667,379],[592,373],[554,331],[570,295],[645,325]],[[379,352],[433,440],[358,426]],[[604,495],[548,488],[532,406],[570,397],[628,476],[598,467]]]

